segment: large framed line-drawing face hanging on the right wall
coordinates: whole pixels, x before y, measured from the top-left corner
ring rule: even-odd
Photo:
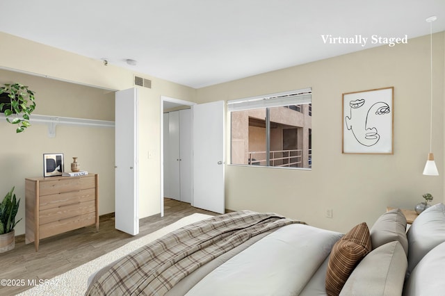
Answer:
[[[393,154],[394,87],[343,94],[343,154]]]

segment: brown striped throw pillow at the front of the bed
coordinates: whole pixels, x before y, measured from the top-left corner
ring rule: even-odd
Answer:
[[[358,224],[338,240],[329,257],[326,271],[326,293],[339,295],[355,266],[371,252],[371,236],[365,222]]]

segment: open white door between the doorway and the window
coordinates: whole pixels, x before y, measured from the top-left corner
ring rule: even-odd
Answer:
[[[224,101],[193,110],[193,204],[224,213]]]

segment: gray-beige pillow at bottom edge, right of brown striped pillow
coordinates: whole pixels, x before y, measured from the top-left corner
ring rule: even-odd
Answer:
[[[388,242],[360,261],[340,295],[402,295],[406,268],[407,258],[401,243]]]

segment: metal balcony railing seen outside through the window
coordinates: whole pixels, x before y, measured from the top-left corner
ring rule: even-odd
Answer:
[[[302,149],[270,151],[270,166],[272,167],[303,167]],[[249,165],[267,165],[266,151],[248,152]],[[309,158],[310,159],[310,158]],[[309,163],[309,167],[310,167]]]

